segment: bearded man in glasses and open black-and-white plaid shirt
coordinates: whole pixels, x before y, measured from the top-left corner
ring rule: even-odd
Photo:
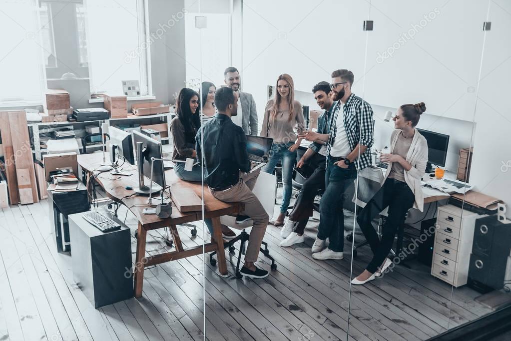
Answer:
[[[326,189],[319,204],[318,235],[312,246],[315,259],[342,259],[344,249],[345,189],[357,172],[371,164],[369,148],[373,145],[375,121],[373,109],[351,92],[353,72],[341,69],[332,72],[330,92],[334,101],[330,134],[305,132],[301,137],[327,144]],[[300,137],[300,136],[298,136]],[[328,248],[325,241],[329,239]]]

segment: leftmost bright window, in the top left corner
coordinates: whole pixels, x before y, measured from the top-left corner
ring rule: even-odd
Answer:
[[[2,105],[40,103],[44,89],[44,57],[38,22],[35,0],[0,1]]]

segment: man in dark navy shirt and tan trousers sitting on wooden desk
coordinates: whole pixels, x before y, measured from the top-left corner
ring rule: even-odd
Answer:
[[[215,93],[215,105],[218,113],[202,127],[202,135],[199,131],[195,136],[197,160],[201,162],[201,155],[204,155],[205,180],[215,198],[228,203],[245,204],[245,211],[242,213],[253,220],[253,226],[245,264],[240,272],[243,276],[263,278],[268,276],[268,272],[254,264],[258,259],[269,221],[263,205],[252,193],[259,172],[250,173],[247,138],[243,129],[231,120],[231,116],[238,114],[237,98],[233,89],[218,89]]]

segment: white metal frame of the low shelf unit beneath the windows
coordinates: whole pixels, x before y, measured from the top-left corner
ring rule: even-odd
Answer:
[[[92,121],[65,121],[65,122],[46,122],[46,123],[29,123],[29,134],[33,137],[33,149],[32,153],[35,155],[35,158],[37,160],[42,160],[42,154],[46,153],[47,150],[45,148],[41,148],[40,143],[40,133],[44,132],[46,129],[52,129],[52,128],[58,128],[59,126],[69,126],[72,125],[74,127],[76,126],[86,126],[90,124],[98,125],[100,126],[102,123],[107,123],[108,126],[115,125],[116,123],[137,123],[142,124],[144,121],[148,121],[154,118],[159,118],[161,122],[167,123],[167,132],[168,136],[170,136],[170,121],[173,118],[173,113],[168,112],[164,114],[154,114],[154,115],[146,115],[146,116],[135,116],[129,114],[128,117],[125,118],[110,118],[105,120],[92,120]],[[162,137],[162,141],[169,141],[169,137]],[[90,145],[90,148],[99,148],[103,147],[103,144],[97,144],[97,145]]]

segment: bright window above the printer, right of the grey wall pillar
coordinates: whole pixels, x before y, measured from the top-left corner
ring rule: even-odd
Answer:
[[[86,45],[88,52],[82,62],[88,62],[90,92],[118,94],[123,80],[138,80],[141,95],[150,94],[144,2],[88,0],[85,5],[87,39],[80,48]]]

